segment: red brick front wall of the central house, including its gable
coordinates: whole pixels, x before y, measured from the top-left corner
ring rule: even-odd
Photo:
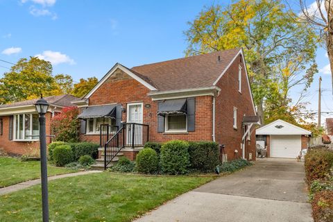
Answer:
[[[113,76],[113,75],[112,75]],[[143,122],[149,125],[149,140],[155,142],[166,142],[171,139],[184,139],[189,141],[212,140],[212,96],[196,97],[196,130],[182,134],[157,133],[157,101],[152,101],[147,96],[150,90],[137,80],[130,78],[120,69],[115,76],[99,87],[89,98],[89,105],[102,105],[108,103],[121,103],[127,108],[127,103],[144,103]],[[145,105],[150,104],[151,108]],[[126,121],[127,112],[122,115]],[[83,141],[99,143],[99,135],[80,135]]]

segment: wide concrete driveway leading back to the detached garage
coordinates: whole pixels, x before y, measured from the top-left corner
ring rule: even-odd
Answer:
[[[182,194],[137,221],[313,221],[304,167],[264,159]]]

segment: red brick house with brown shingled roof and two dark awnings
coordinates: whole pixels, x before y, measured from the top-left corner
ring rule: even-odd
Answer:
[[[134,160],[148,140],[184,139],[223,144],[224,159],[255,159],[258,118],[241,49],[131,69],[117,63],[74,104],[82,108],[80,139],[103,147],[113,136],[107,144],[113,155]],[[103,124],[112,126],[110,135]]]

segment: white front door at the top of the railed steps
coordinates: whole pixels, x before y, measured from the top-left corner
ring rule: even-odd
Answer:
[[[143,103],[128,103],[127,104],[127,123],[143,123]],[[127,127],[127,144],[131,146],[133,144],[133,130],[134,130],[134,142],[135,144],[142,143],[142,126],[129,125]]]

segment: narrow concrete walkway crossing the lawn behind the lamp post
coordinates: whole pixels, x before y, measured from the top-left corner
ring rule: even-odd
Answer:
[[[62,175],[57,175],[57,176],[49,176],[48,181],[57,180],[60,178],[69,178],[72,176],[81,176],[81,175],[86,175],[86,174],[90,174],[90,173],[100,173],[100,172],[102,172],[102,171],[82,171],[82,172],[78,172],[78,173],[67,173],[67,174],[62,174]],[[9,194],[11,192],[18,191],[20,189],[26,189],[27,187],[31,187],[33,185],[38,185],[38,184],[40,184],[40,179],[28,180],[25,182],[20,182],[16,185],[3,187],[3,188],[0,188],[0,196],[3,194]]]

